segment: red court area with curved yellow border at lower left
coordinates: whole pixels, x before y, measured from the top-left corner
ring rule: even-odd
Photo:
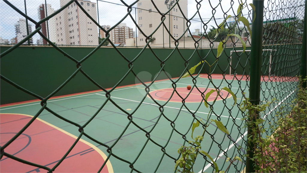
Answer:
[[[21,130],[31,118],[32,116],[22,114],[1,114],[1,146]],[[4,152],[52,168],[75,141],[76,136],[37,118],[4,149]],[[106,158],[107,156],[97,147],[80,139],[53,172],[97,172]],[[1,159],[0,170],[1,172],[47,172],[47,170],[23,164],[6,156]],[[110,161],[101,172],[113,172]]]

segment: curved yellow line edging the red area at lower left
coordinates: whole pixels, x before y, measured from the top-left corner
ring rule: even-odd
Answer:
[[[29,117],[32,117],[32,118],[34,117],[34,116],[32,116],[32,115],[26,115],[26,114],[11,114],[11,113],[2,113],[2,114],[25,115],[25,116],[29,116]],[[0,114],[0,115],[1,115],[1,114]],[[75,138],[75,139],[78,138],[78,137],[76,137],[75,135],[73,135],[73,134],[71,134],[71,133],[68,133],[67,131],[65,131],[65,130],[63,130],[63,129],[57,127],[57,126],[54,126],[54,125],[50,124],[49,122],[46,122],[46,121],[44,121],[44,120],[42,120],[42,119],[40,119],[40,118],[36,118],[36,119],[39,120],[39,121],[41,121],[41,122],[43,122],[43,123],[45,123],[45,124],[47,124],[47,125],[49,125],[49,126],[51,126],[51,127],[53,127],[53,128],[55,128],[56,130],[59,130],[59,131],[63,132],[64,134],[67,134],[67,135],[70,136],[70,137],[73,137],[73,138]],[[89,143],[89,142],[87,142],[87,141],[85,141],[85,140],[83,140],[83,139],[81,139],[81,138],[80,138],[79,141],[81,141],[81,142],[83,142],[84,144],[86,144],[86,145],[90,146],[91,148],[95,149],[96,152],[98,152],[98,153],[102,156],[103,160],[107,160],[107,155],[104,154],[104,152],[102,152],[100,149],[98,149],[95,145],[93,145],[93,144],[91,144],[91,143]],[[113,167],[112,167],[112,164],[111,164],[110,160],[107,161],[106,165],[107,165],[107,169],[108,169],[109,173],[114,173]]]

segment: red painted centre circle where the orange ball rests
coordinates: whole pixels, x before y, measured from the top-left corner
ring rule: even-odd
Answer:
[[[207,92],[211,91],[211,89],[213,88],[198,88],[201,92],[204,92],[204,95],[206,95]],[[176,88],[176,91],[178,92],[178,94],[181,96],[179,96],[176,92],[174,92],[173,96],[173,88],[165,88],[165,89],[158,89],[155,91],[150,92],[150,95],[155,99],[155,100],[161,100],[161,101],[167,101],[169,100],[169,98],[171,97],[171,99],[169,100],[170,102],[182,102],[182,98],[185,98],[188,93],[191,90],[188,90],[186,87],[182,87],[182,88]],[[185,99],[186,103],[199,103],[201,102],[201,100],[203,99],[203,97],[201,96],[201,92],[199,92],[195,87],[192,89],[191,93],[188,95],[188,97]],[[216,92],[213,92],[209,98],[208,98],[208,102],[209,101],[213,101],[216,98]],[[228,97],[227,97],[228,95]],[[228,94],[227,91],[221,90],[220,91],[220,96],[216,99],[216,100],[222,100],[222,99],[226,99],[231,97],[230,94]]]

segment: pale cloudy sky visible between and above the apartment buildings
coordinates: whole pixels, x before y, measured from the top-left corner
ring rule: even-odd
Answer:
[[[91,1],[97,3],[97,0]],[[9,2],[16,6],[18,9],[20,9],[22,12],[25,12],[24,0],[9,0]],[[46,2],[47,4],[51,4],[52,8],[54,8],[55,10],[60,8],[60,0],[46,0]],[[126,2],[127,4],[132,4],[134,0],[125,0],[124,2]],[[155,0],[155,2],[164,3],[165,0]],[[225,18],[227,17],[227,15],[236,15],[237,9],[239,7],[239,2],[240,0],[234,0],[232,2],[230,0],[223,0],[221,3],[219,3],[218,0],[203,0],[200,2],[200,16],[203,21],[206,22],[208,29],[210,28],[210,25],[217,28],[217,26],[223,21],[223,19],[221,18]],[[37,8],[42,3],[45,4],[45,0],[26,0],[27,15],[29,15],[29,17],[33,18],[35,21],[38,21]],[[231,3],[233,3],[233,8],[231,8]],[[249,3],[252,3],[252,0],[246,1],[246,4]],[[113,26],[117,22],[119,22],[122,17],[126,15],[127,7],[116,4],[122,5],[122,2],[119,0],[98,0],[100,25]],[[191,18],[196,13],[196,5],[197,3],[195,0],[188,0],[188,18]],[[3,1],[0,1],[0,7],[0,37],[2,37],[2,39],[9,39],[10,41],[10,39],[15,37],[16,35],[14,24],[16,24],[19,18],[24,17],[22,17],[19,13],[17,13],[14,9],[12,9]],[[134,5],[134,7],[136,7],[136,4]],[[248,8],[251,9],[250,6]],[[214,18],[217,19],[216,22],[213,19],[209,20],[213,16],[212,13],[214,13]],[[245,17],[248,16],[247,8],[243,10],[243,14],[246,15]],[[134,10],[132,12],[132,15],[135,16]],[[203,24],[201,24],[200,22],[200,16],[197,14],[195,17],[193,17],[193,19],[196,21],[192,21],[192,24],[190,26],[191,32],[194,32],[195,29],[201,29],[201,26]],[[251,21],[250,18],[248,18],[248,20]],[[133,28],[133,30],[135,31],[136,27],[129,16],[123,21],[123,23],[126,23],[128,27]],[[34,30],[35,25],[32,23],[32,31]],[[39,38],[40,36],[38,34],[33,36],[33,43],[36,43],[36,40]]]

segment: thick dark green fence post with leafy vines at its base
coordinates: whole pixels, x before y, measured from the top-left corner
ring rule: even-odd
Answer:
[[[258,105],[260,102],[260,77],[262,62],[262,32],[263,32],[263,0],[253,0],[256,10],[253,11],[253,17],[256,13],[255,21],[252,23],[251,31],[251,73],[249,97],[252,104]],[[249,119],[248,121],[254,121]],[[247,127],[247,139],[251,136],[251,126]],[[253,158],[253,148],[256,144],[252,141],[247,142],[246,172],[255,172],[254,164],[250,158]]]

